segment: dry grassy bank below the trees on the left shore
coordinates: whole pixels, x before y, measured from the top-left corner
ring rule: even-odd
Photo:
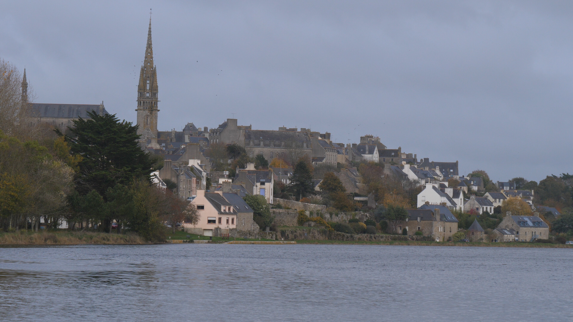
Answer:
[[[0,233],[0,245],[147,244],[133,233],[108,234],[81,231],[16,231]]]

